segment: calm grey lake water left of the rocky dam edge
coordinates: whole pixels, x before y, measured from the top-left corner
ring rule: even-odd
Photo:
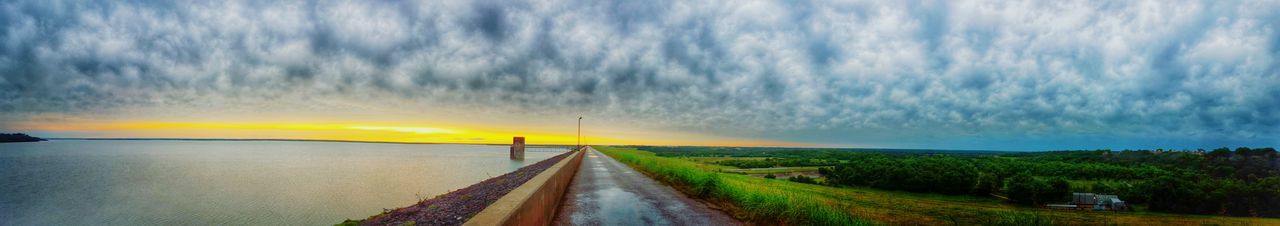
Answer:
[[[333,225],[559,152],[342,142],[0,143],[0,225]]]

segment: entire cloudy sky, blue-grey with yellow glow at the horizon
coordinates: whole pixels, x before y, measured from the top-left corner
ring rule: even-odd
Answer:
[[[0,132],[1280,146],[1280,1],[0,3]]]

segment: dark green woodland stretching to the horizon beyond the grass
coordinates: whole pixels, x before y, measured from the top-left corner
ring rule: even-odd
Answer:
[[[1073,192],[1116,194],[1149,211],[1280,217],[1275,148],[1055,152],[855,152],[796,148],[666,148],[664,156],[735,156],[735,167],[827,166],[826,185],[918,193],[1001,195],[1064,203]]]

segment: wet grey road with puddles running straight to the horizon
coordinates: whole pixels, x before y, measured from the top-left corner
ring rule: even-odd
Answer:
[[[589,148],[554,225],[741,225]]]

